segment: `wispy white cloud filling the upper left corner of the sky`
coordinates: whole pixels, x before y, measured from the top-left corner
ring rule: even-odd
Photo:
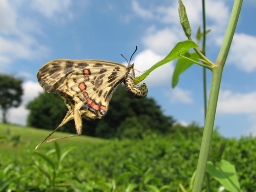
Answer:
[[[43,36],[40,22],[36,17],[27,17],[21,10],[40,13],[48,19],[65,21],[72,18],[69,12],[70,0],[0,0],[0,66],[11,67],[19,59],[33,60],[48,55],[49,48],[40,44],[36,35]],[[23,10],[24,11],[24,10]]]

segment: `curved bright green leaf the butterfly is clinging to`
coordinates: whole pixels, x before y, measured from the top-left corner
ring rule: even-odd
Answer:
[[[189,49],[193,49],[198,47],[195,42],[191,40],[181,41],[175,45],[175,47],[171,50],[171,52],[160,62],[154,64],[152,67],[150,67],[145,73],[143,73],[141,76],[136,77],[133,82],[138,84],[143,79],[145,79],[153,70],[160,67],[163,64],[167,64],[175,59],[180,59],[182,56],[180,55],[182,52],[187,51]]]

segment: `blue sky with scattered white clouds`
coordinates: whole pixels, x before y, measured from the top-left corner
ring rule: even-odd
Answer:
[[[205,1],[206,28],[211,30],[206,56],[215,62],[234,0]],[[196,41],[202,26],[201,0],[183,3]],[[215,118],[215,128],[224,137],[256,136],[255,18],[256,1],[245,0],[224,66]],[[178,0],[0,0],[0,73],[24,79],[22,104],[9,110],[8,121],[26,125],[26,105],[43,92],[36,73],[49,61],[94,59],[127,65],[120,54],[129,59],[137,45],[132,63],[144,71],[184,40]],[[172,89],[175,64],[162,65],[144,80],[148,97],[177,122],[203,126],[203,69],[192,65]],[[208,95],[211,77],[207,69]]]

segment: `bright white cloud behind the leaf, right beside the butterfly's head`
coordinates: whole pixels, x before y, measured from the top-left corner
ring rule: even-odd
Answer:
[[[156,64],[164,57],[161,55],[156,54],[151,49],[146,49],[139,54],[136,55],[134,60],[131,63],[134,63],[134,68],[139,71],[144,71],[149,69],[152,65]],[[140,76],[138,72],[136,72],[135,76]],[[170,84],[171,77],[173,73],[173,66],[171,63],[164,64],[159,68],[152,71],[149,76],[143,81],[143,83],[148,84],[149,86],[156,86],[156,85],[163,85],[163,84]]]

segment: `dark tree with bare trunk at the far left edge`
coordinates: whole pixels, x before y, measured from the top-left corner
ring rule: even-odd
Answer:
[[[6,115],[11,107],[21,104],[23,80],[12,75],[0,74],[0,106],[2,109],[2,122],[7,123]]]

